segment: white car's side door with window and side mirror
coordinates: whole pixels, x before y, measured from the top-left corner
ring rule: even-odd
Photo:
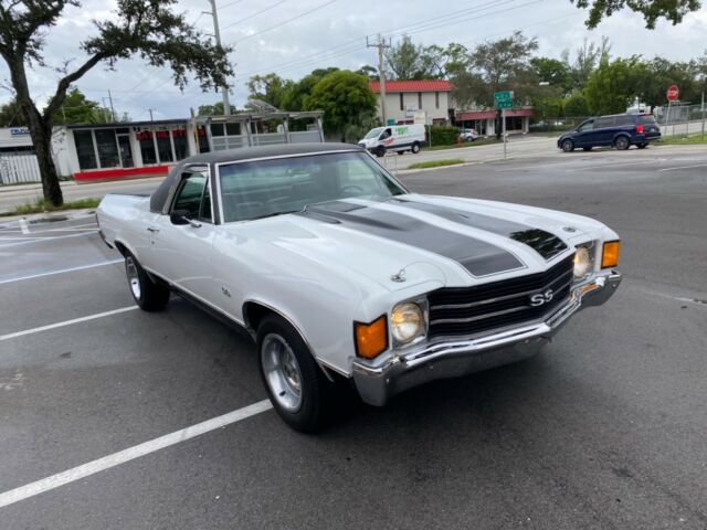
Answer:
[[[154,272],[207,303],[214,298],[211,259],[218,229],[211,187],[208,166],[186,167],[168,213],[158,215],[150,230]]]

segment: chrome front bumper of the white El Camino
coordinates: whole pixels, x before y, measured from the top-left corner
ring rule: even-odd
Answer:
[[[528,322],[476,338],[436,339],[416,348],[388,352],[372,361],[354,362],[354,381],[361,399],[382,406],[393,395],[437,379],[468,373],[520,361],[536,354],[558,329],[583,307],[600,306],[621,283],[612,272],[572,289],[570,298],[544,321]]]

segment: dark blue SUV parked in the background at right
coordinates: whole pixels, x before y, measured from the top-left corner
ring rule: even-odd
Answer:
[[[592,147],[615,147],[629,149],[632,145],[643,149],[648,141],[661,138],[661,129],[650,114],[615,114],[591,118],[577,129],[568,130],[557,140],[557,147],[564,152],[581,147],[589,151]]]

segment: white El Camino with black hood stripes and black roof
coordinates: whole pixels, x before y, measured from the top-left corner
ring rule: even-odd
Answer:
[[[199,155],[151,197],[107,195],[97,218],[143,309],[173,292],[249,332],[299,431],[345,381],[383,405],[528,358],[621,282],[619,236],[598,221],[411,193],[342,144]]]

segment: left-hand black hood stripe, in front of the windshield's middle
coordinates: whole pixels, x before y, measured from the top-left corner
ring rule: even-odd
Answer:
[[[440,254],[460,263],[474,276],[525,268],[520,259],[504,248],[402,213],[334,201],[307,208],[298,215],[341,224]]]

